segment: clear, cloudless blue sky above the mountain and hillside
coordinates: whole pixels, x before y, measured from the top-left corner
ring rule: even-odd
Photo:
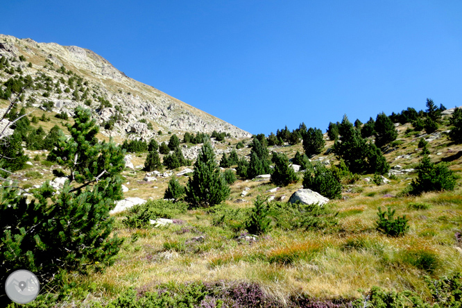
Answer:
[[[1,3],[0,33],[91,49],[254,134],[462,105],[462,1]]]

